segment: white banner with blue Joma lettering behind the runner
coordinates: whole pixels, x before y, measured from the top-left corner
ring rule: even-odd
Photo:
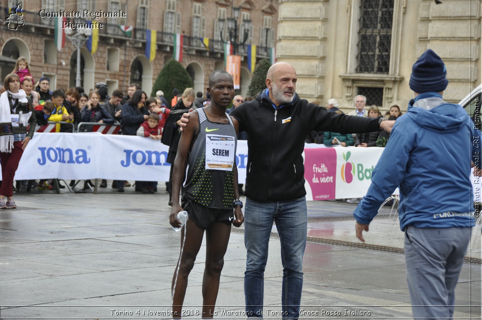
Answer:
[[[237,164],[242,182],[246,179],[247,151],[246,141],[239,141]],[[169,147],[159,140],[140,136],[35,133],[22,155],[15,180],[168,181],[171,169],[166,162],[168,152]]]

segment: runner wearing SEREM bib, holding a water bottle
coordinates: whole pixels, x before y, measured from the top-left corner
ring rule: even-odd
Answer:
[[[244,220],[241,212],[242,203],[238,199],[235,154],[238,128],[233,126],[233,122],[226,113],[226,107],[234,96],[232,77],[225,70],[215,70],[209,77],[207,92],[211,94],[211,103],[207,107],[198,109],[199,111],[190,113],[193,121],[189,122],[181,134],[174,160],[172,210],[169,220],[173,227],[180,227],[176,215],[186,210],[189,219],[186,227],[181,230],[181,242],[184,232],[189,231],[186,232],[179,272],[175,281],[173,319],[181,318],[187,277],[201,247],[204,230],[206,231],[206,265],[202,284],[201,318],[213,318],[219,277],[231,232],[230,223],[232,220],[235,227],[240,227]],[[179,190],[188,157],[189,170],[181,207]],[[235,199],[236,203],[233,201]],[[232,219],[233,207],[234,219]]]

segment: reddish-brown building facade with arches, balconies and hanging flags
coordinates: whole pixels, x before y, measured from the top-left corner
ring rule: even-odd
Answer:
[[[182,65],[187,68],[194,90],[205,92],[209,74],[224,68],[223,41],[228,40],[228,29],[219,32],[218,19],[232,16],[232,7],[240,7],[238,24],[251,19],[246,44],[257,45],[256,58],[268,58],[268,48],[275,46],[279,2],[276,0],[0,0],[1,13],[8,16],[8,8],[21,3],[27,27],[0,29],[1,77],[13,69],[11,59],[25,56],[35,80],[43,75],[51,79],[51,89],[75,85],[77,50],[69,40],[61,51],[54,42],[54,18],[40,17],[47,12],[126,12],[125,18],[101,17],[104,25],[99,30],[97,51],[91,54],[86,46],[81,52],[82,86],[88,91],[99,81],[109,84],[109,93],[116,88],[124,91],[132,82],[139,83],[150,94],[152,85],[164,64],[173,57],[173,33],[184,35]],[[1,16],[3,18],[3,16]],[[2,19],[4,20],[4,18]],[[72,22],[85,23],[88,19],[73,18]],[[133,26],[132,37],[126,37],[118,25]],[[146,29],[157,30],[157,51],[154,60],[146,57]],[[239,27],[243,32],[243,27]],[[199,38],[209,38],[206,48]],[[247,68],[246,48],[241,46],[241,89],[246,94],[251,80]]]

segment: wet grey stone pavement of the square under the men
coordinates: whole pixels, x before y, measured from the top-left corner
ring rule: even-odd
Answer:
[[[108,186],[110,186],[110,181]],[[0,211],[1,319],[170,319],[171,280],[180,233],[168,223],[164,185],[142,194],[126,187],[98,194],[63,189],[19,193]],[[161,191],[162,190],[162,191]],[[302,319],[411,319],[403,233],[384,207],[358,247],[355,204],[308,201]],[[244,319],[246,262],[242,227],[232,229],[216,319]],[[481,257],[481,228],[467,253]],[[372,244],[378,246],[371,246]],[[376,249],[376,250],[375,250]],[[394,252],[382,251],[391,250]],[[398,250],[398,251],[397,251]],[[201,318],[205,243],[189,276],[183,318]],[[457,319],[481,319],[481,265],[464,263],[455,289]],[[280,241],[273,226],[263,310],[281,319]]]

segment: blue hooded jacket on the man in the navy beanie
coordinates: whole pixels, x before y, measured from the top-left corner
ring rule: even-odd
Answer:
[[[399,187],[402,231],[408,225],[475,226],[470,161],[480,157],[480,137],[461,106],[443,101],[439,93],[417,95],[393,126],[353,216],[369,224]]]

